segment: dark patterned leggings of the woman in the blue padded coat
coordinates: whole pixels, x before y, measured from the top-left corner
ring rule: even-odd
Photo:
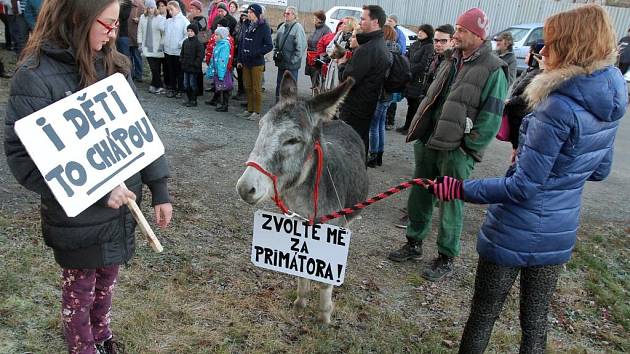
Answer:
[[[475,295],[459,352],[484,352],[494,322],[520,273],[520,353],[544,353],[547,344],[547,313],[561,268],[560,264],[527,268],[504,267],[479,257]]]

